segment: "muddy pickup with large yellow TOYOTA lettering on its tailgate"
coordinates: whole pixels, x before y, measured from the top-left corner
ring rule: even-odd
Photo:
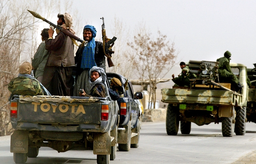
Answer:
[[[14,162],[25,163],[40,147],[50,147],[93,150],[97,164],[108,164],[116,157],[118,111],[108,90],[106,98],[16,95],[10,109]]]

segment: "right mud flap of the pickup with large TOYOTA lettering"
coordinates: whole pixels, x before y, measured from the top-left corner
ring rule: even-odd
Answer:
[[[111,138],[108,133],[93,134],[93,154],[111,154]]]

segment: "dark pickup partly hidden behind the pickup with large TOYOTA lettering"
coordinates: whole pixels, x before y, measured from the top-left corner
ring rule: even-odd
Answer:
[[[129,151],[130,148],[137,148],[140,141],[140,109],[135,100],[143,98],[142,92],[134,94],[132,83],[129,79],[116,73],[106,73],[108,80],[118,78],[124,88],[124,94],[117,100],[119,106],[119,125],[117,143],[119,151]]]

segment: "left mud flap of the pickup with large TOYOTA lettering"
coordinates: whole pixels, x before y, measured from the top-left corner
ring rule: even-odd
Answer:
[[[14,131],[11,135],[10,152],[28,153],[28,131]]]

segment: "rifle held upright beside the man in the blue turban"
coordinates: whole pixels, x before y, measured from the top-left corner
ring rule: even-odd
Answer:
[[[108,61],[108,67],[114,66],[113,62],[111,61],[111,54],[114,53],[114,51],[111,51],[111,48],[114,45],[114,42],[116,41],[116,37],[113,37],[112,39],[108,39],[106,37],[106,29],[105,29],[105,23],[104,23],[104,17],[100,18],[103,21],[102,27],[102,40],[103,40],[103,50],[104,55],[107,57]]]

